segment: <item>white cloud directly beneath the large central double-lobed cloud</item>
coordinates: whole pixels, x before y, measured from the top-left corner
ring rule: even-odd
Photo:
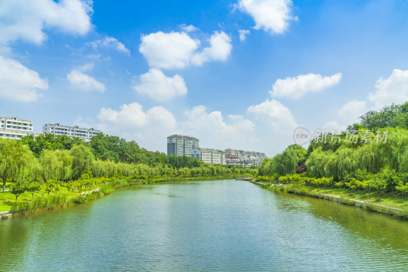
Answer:
[[[141,83],[132,86],[139,94],[145,94],[157,100],[168,100],[176,95],[186,95],[187,87],[183,77],[175,74],[166,76],[161,70],[151,68],[140,75]]]

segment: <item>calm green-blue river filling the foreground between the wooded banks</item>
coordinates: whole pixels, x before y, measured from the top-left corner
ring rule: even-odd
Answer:
[[[2,271],[408,270],[408,222],[235,180],[129,186],[0,221]]]

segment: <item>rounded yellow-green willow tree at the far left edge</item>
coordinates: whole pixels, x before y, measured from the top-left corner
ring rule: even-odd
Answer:
[[[25,178],[35,161],[33,152],[20,141],[0,138],[0,177],[3,180],[3,192],[7,179]]]

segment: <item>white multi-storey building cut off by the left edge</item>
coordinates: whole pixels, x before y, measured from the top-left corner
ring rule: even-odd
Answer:
[[[29,120],[17,119],[13,116],[0,117],[0,137],[20,139],[25,135],[33,134],[34,123]]]

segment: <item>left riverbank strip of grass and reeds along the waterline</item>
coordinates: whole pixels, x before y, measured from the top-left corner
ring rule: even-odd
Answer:
[[[234,179],[236,176],[224,176],[224,177],[161,177],[161,178],[148,178],[148,179],[117,179],[111,182],[107,182],[106,184],[102,184],[99,188],[94,188],[89,191],[79,192],[75,194],[64,194],[60,192],[58,195],[57,193],[55,196],[39,196],[39,193],[35,193],[35,198],[31,195],[31,193],[24,193],[25,197],[30,196],[32,199],[25,199],[23,201],[17,201],[16,203],[10,203],[14,195],[9,192],[1,193],[2,202],[4,204],[4,200],[6,199],[9,205],[3,205],[0,210],[1,213],[4,214],[12,214],[15,215],[25,215],[36,213],[40,211],[46,210],[53,210],[62,207],[68,207],[71,205],[77,205],[81,203],[85,203],[91,200],[99,199],[104,197],[111,192],[115,191],[115,189],[125,186],[131,185],[142,185],[142,184],[152,184],[158,182],[171,182],[171,181],[192,181],[192,180],[223,180],[223,179]],[[6,195],[8,194],[8,195]],[[8,209],[5,207],[9,207]],[[3,216],[0,216],[0,219]],[[10,218],[11,216],[4,216],[4,218]]]

